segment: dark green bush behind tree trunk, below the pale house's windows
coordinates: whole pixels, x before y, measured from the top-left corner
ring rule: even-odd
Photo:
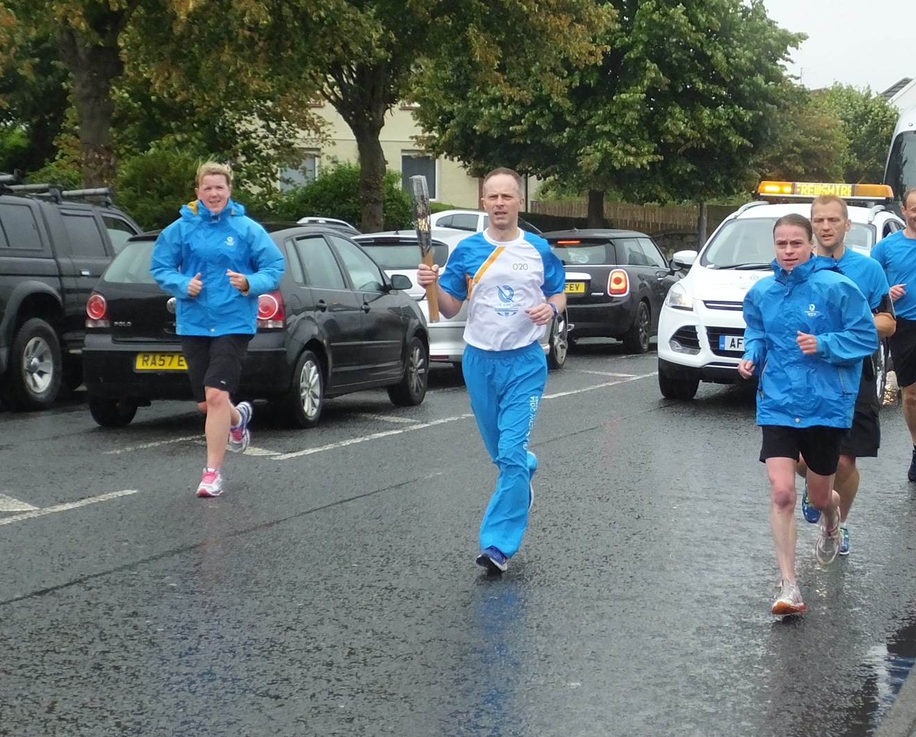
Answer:
[[[361,220],[359,201],[360,168],[356,164],[340,164],[305,187],[281,194],[273,206],[254,194],[252,211],[264,220],[296,222],[302,217],[337,218],[358,227]],[[407,192],[400,188],[400,174],[388,171],[382,181],[384,230],[409,228],[413,223],[413,208]]]

